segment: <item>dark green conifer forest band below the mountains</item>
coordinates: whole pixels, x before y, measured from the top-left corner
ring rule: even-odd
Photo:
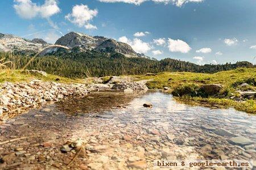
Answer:
[[[32,57],[11,56],[1,53],[10,67],[21,69]],[[88,51],[82,53],[61,53],[56,56],[36,57],[27,69],[42,70],[49,74],[66,77],[85,78],[86,76],[128,75],[159,73],[162,71],[189,71],[195,73],[216,73],[217,71],[232,70],[237,67],[254,67],[249,62],[237,62],[225,65],[196,65],[195,63],[166,58],[161,61],[147,58],[127,58],[119,53],[101,53]]]

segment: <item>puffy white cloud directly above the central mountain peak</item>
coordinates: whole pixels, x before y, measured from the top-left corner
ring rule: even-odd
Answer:
[[[65,19],[71,23],[78,25],[79,27],[85,27],[86,29],[96,29],[97,27],[90,24],[95,16],[97,16],[98,10],[90,10],[87,5],[75,5],[72,8],[72,12],[65,16]]]

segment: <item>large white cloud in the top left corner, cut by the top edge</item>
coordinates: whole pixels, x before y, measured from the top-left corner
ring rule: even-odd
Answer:
[[[14,0],[14,9],[16,13],[24,19],[32,19],[36,16],[41,18],[49,18],[60,12],[56,0],[46,0],[44,4],[39,6],[31,0]]]

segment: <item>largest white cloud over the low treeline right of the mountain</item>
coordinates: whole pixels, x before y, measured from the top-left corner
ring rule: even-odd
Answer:
[[[180,52],[180,53],[188,53],[191,50],[191,47],[182,40],[172,40],[168,39],[168,48],[170,52]]]

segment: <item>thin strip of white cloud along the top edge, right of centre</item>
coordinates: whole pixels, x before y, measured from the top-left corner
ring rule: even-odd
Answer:
[[[133,3],[135,5],[141,5],[141,3],[146,2],[146,1],[153,1],[155,3],[172,3],[176,5],[177,7],[183,6],[185,3],[188,2],[203,2],[204,0],[99,0],[100,2],[123,2],[123,3]]]

